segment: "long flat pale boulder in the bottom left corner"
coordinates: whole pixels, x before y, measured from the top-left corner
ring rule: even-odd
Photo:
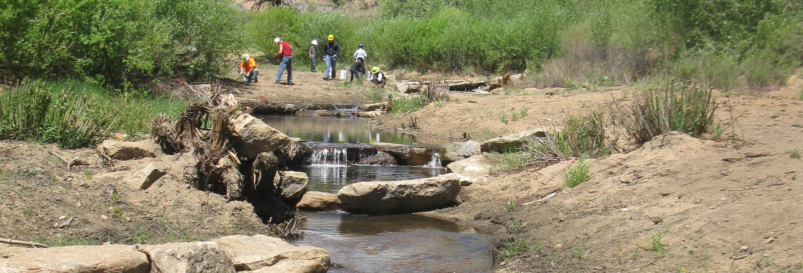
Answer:
[[[132,246],[8,247],[0,272],[147,273],[148,256]]]

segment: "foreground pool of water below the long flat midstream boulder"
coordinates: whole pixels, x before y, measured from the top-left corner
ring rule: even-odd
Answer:
[[[491,271],[491,237],[421,215],[304,213],[298,245],[324,247],[329,272]]]

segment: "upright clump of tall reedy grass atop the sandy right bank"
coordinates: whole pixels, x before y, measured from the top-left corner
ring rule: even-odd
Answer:
[[[719,106],[711,92],[710,88],[703,89],[694,82],[675,85],[672,81],[661,90],[634,91],[629,104],[614,99],[608,106],[616,122],[634,143],[641,145],[672,130],[695,136],[708,133]]]

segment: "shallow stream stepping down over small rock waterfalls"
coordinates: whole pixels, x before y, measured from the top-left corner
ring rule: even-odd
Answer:
[[[344,110],[353,111],[353,110]],[[337,193],[349,183],[421,179],[442,175],[439,162],[429,166],[349,164],[376,155],[370,143],[399,143],[435,148],[447,139],[378,130],[368,119],[313,114],[263,115],[268,125],[313,146],[310,165],[293,171],[308,174],[309,191]],[[433,156],[436,158],[437,154]],[[493,239],[450,221],[422,215],[354,215],[344,211],[299,211],[302,239],[296,245],[329,252],[329,272],[485,272],[493,269]]]

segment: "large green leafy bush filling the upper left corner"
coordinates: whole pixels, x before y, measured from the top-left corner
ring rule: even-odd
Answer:
[[[0,72],[100,84],[208,79],[242,45],[225,0],[0,0]]]

